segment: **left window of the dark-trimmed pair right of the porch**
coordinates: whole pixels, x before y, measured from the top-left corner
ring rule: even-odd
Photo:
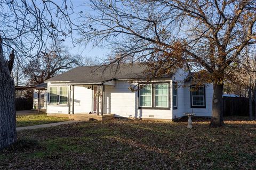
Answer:
[[[140,89],[140,107],[152,106],[152,84],[142,85]]]

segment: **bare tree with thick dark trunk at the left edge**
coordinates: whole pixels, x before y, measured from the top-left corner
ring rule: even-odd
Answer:
[[[14,82],[5,60],[12,51],[20,60],[33,57],[76,30],[68,1],[0,0],[0,149],[17,140]]]

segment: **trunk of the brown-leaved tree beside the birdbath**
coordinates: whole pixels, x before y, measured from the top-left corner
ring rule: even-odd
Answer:
[[[212,118],[211,127],[218,127],[224,124],[222,116],[222,95],[223,84],[213,84],[213,97],[212,97]]]

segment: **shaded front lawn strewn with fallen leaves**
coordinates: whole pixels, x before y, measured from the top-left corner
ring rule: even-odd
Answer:
[[[111,120],[18,132],[0,169],[256,169],[256,121]]]

